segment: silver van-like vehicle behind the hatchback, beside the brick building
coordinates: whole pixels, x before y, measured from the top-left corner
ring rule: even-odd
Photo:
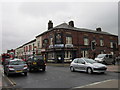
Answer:
[[[115,60],[112,54],[99,54],[95,61],[103,64],[115,64]]]

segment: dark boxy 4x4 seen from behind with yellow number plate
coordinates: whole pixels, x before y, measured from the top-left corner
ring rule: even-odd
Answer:
[[[26,62],[30,72],[33,70],[46,70],[46,63],[43,56],[31,56]]]

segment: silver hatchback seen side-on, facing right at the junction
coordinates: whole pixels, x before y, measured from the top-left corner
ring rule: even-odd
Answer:
[[[75,58],[70,64],[70,70],[74,71],[84,71],[89,74],[93,72],[104,73],[107,66],[101,63],[97,63],[93,59],[88,58]]]

